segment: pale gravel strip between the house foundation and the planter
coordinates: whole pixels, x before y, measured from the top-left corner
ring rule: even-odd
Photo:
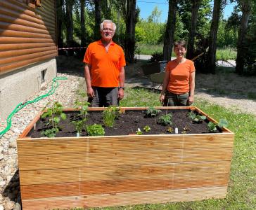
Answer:
[[[20,183],[18,175],[18,155],[16,139],[25,127],[34,119],[46,104],[60,102],[64,107],[70,107],[75,101],[75,92],[79,85],[80,76],[57,73],[57,76],[67,77],[68,80],[58,80],[59,86],[51,96],[41,99],[39,102],[29,104],[18,111],[12,118],[11,129],[0,140],[0,210],[21,209],[20,207]],[[51,90],[51,81],[46,83],[37,94],[27,99],[46,94]],[[14,109],[14,108],[13,108]],[[6,120],[0,119],[0,130],[6,128]]]

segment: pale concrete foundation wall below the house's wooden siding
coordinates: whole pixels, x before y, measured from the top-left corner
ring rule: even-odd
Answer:
[[[48,59],[0,75],[0,118],[6,118],[20,102],[37,92],[42,83],[56,77],[56,59]]]

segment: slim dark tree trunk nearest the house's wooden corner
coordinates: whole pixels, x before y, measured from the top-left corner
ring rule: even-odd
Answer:
[[[58,48],[63,48],[63,37],[62,37],[62,27],[63,27],[63,0],[58,0],[56,3],[57,7],[57,40]]]

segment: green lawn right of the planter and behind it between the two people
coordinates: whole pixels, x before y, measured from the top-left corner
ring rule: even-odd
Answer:
[[[159,93],[147,89],[127,87],[126,97],[120,106],[160,106]],[[91,209],[256,209],[256,118],[255,116],[229,111],[206,101],[194,104],[215,120],[226,118],[229,129],[236,134],[228,194],[225,199],[200,202],[167,204],[140,204],[128,207]]]

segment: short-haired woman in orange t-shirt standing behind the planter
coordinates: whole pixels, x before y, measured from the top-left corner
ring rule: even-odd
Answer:
[[[189,106],[194,101],[196,69],[193,62],[185,58],[186,42],[174,43],[176,59],[165,68],[160,102],[164,106]]]

